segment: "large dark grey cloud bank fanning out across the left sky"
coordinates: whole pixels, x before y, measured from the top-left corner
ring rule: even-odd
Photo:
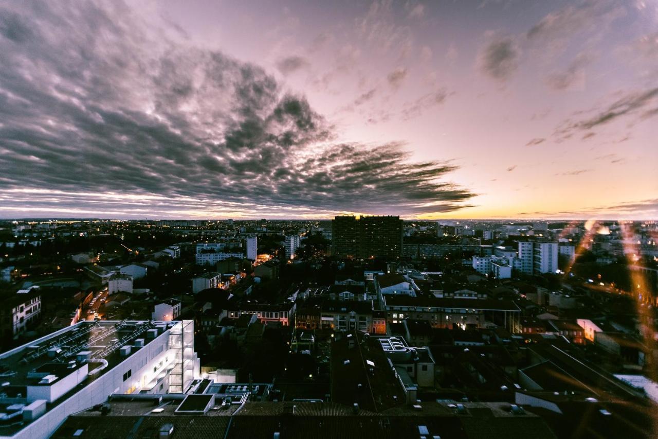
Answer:
[[[332,142],[263,69],[149,32],[122,3],[0,6],[0,215],[413,215],[472,196],[403,144]]]

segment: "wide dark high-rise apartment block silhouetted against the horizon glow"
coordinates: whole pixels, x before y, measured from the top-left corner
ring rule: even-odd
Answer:
[[[402,253],[399,216],[337,216],[332,221],[332,254],[343,258],[397,258]]]

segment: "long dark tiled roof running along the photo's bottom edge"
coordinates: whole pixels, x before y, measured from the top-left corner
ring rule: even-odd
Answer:
[[[153,395],[151,395],[153,396]],[[155,395],[157,396],[157,395]],[[218,404],[206,413],[174,415],[180,399],[163,395],[160,403],[149,399],[114,399],[109,411],[88,410],[70,416],[53,438],[157,437],[161,428],[173,429],[177,438],[344,438],[388,439],[441,436],[445,438],[554,439],[540,417],[512,413],[508,403],[428,402],[417,407],[402,406],[384,413],[337,403],[247,402],[227,407]],[[234,407],[240,407],[234,409]],[[428,433],[426,433],[428,432]]]

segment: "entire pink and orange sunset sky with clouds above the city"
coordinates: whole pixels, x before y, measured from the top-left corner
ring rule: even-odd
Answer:
[[[0,218],[658,216],[658,0],[0,0]]]

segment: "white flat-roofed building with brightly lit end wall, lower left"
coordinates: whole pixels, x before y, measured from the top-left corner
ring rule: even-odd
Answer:
[[[80,322],[0,354],[0,437],[45,439],[113,394],[182,394],[199,377],[194,323]]]

